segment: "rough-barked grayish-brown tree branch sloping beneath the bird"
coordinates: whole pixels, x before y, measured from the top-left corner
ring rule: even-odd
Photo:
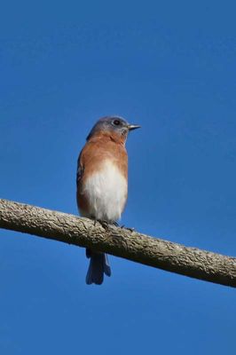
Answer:
[[[169,272],[236,287],[236,258],[162,241],[88,218],[0,199],[0,227],[89,247]]]

